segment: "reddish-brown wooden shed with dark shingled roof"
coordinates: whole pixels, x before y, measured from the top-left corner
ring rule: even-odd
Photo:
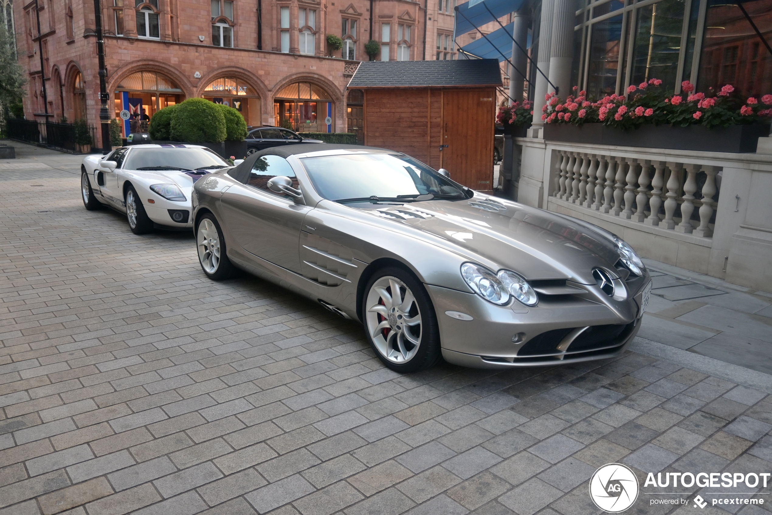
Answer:
[[[364,144],[445,168],[477,190],[493,188],[496,59],[361,63],[348,90],[364,92]]]

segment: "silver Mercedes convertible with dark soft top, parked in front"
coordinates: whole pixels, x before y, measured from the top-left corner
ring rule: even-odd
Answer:
[[[360,320],[394,371],[614,357],[652,288],[610,232],[381,148],[269,148],[196,182],[192,202],[207,276],[244,269]]]

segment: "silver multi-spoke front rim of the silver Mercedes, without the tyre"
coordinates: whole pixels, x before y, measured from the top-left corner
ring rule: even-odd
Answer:
[[[421,311],[410,288],[393,276],[377,280],[367,293],[367,330],[392,363],[410,361],[421,345]]]

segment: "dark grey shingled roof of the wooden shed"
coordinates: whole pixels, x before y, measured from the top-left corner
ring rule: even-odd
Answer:
[[[371,61],[359,65],[348,87],[501,85],[496,59]]]

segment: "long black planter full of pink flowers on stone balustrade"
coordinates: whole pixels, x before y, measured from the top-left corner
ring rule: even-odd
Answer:
[[[743,153],[755,152],[758,138],[770,134],[772,95],[743,100],[731,84],[694,93],[688,80],[681,90],[675,95],[662,88],[662,80],[651,79],[628,87],[626,97],[594,100],[580,91],[563,101],[547,93],[544,139]]]

